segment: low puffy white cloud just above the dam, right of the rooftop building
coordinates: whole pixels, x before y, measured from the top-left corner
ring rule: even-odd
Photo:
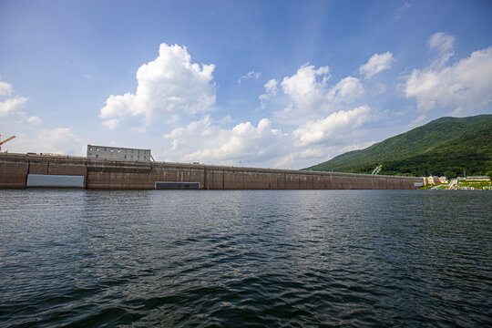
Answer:
[[[225,129],[214,125],[210,116],[193,121],[186,127],[175,128],[164,138],[171,140],[167,152],[184,161],[213,162],[237,165],[259,163],[279,156],[286,136],[272,128],[268,118],[262,118],[255,127],[243,122]]]

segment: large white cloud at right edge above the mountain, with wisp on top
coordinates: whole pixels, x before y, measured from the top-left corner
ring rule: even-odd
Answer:
[[[441,58],[447,58],[452,42],[445,36],[435,36],[429,43],[440,47],[440,54],[444,54]],[[441,59],[439,64],[446,60]],[[421,112],[434,108],[443,108],[446,115],[480,112],[492,101],[492,46],[477,50],[452,66],[414,69],[405,82],[405,95],[415,97]],[[454,111],[449,113],[449,109]]]

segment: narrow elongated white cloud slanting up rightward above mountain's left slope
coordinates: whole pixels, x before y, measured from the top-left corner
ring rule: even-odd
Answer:
[[[371,108],[367,105],[341,110],[326,118],[302,124],[293,131],[293,137],[297,139],[299,146],[318,144],[330,138],[340,138],[343,132],[350,133],[352,129],[361,127],[372,118]]]

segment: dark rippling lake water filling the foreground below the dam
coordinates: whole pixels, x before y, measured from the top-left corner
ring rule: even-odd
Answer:
[[[492,324],[492,192],[0,190],[0,326]]]

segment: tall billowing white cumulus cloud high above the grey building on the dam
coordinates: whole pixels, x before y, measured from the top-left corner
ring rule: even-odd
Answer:
[[[99,116],[108,128],[116,128],[117,119],[125,117],[142,115],[149,124],[159,115],[206,110],[215,103],[214,69],[192,63],[186,46],[163,43],[159,56],[138,68],[136,93],[109,96]]]

